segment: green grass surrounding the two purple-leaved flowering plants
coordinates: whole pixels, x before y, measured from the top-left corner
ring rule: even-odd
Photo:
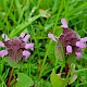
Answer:
[[[24,87],[52,87],[52,70],[55,73],[63,72],[65,60],[59,61],[55,58],[55,42],[48,38],[48,33],[58,37],[61,35],[62,17],[67,20],[69,26],[80,37],[87,36],[86,0],[0,0],[0,36],[4,33],[13,38],[24,32],[30,34],[29,41],[35,44],[34,52],[21,66],[5,61],[7,57],[0,58],[0,87],[7,87],[12,69],[14,71],[11,87],[22,87],[24,80]],[[71,87],[87,86],[87,48],[83,53],[83,58],[74,63],[77,78]],[[73,55],[71,58],[74,59]],[[15,84],[16,78],[20,82]],[[64,78],[66,82],[63,84],[66,86],[70,77]]]

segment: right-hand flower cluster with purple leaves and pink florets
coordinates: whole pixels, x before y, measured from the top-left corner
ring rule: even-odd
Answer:
[[[64,53],[75,53],[77,58],[80,58],[83,55],[82,49],[86,48],[87,37],[80,38],[77,33],[70,29],[67,27],[67,22],[65,21],[65,18],[62,18],[61,23],[61,26],[63,27],[63,33],[58,40],[63,46]],[[57,41],[55,36],[53,34],[48,34],[48,37]]]

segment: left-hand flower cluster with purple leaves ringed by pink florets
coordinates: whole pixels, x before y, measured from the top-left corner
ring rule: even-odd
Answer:
[[[14,37],[13,39],[9,39],[5,34],[2,34],[2,38],[4,41],[0,41],[0,47],[5,48],[0,51],[0,55],[4,57],[9,54],[9,57],[18,62],[23,57],[27,59],[30,55],[28,49],[34,50],[34,44],[28,42],[30,35],[22,33],[20,37]]]

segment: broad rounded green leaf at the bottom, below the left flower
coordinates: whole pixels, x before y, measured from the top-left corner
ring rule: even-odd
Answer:
[[[17,74],[17,82],[15,83],[15,87],[30,87],[34,85],[33,79],[24,73]]]

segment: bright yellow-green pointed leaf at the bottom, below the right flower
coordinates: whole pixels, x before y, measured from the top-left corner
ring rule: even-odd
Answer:
[[[52,87],[61,87],[63,84],[63,79],[54,73],[54,70],[51,73],[50,80],[51,80]]]

